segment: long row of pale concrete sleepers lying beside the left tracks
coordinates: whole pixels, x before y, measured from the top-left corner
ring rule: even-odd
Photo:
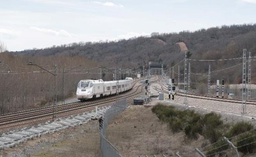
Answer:
[[[38,124],[37,127],[23,128],[20,130],[11,130],[8,133],[3,133],[0,137],[0,150],[5,148],[13,148],[17,144],[21,144],[24,141],[41,137],[49,133],[54,133],[59,130],[69,128],[69,126],[77,126],[86,124],[91,119],[98,119],[101,117],[108,107],[98,108],[89,113],[82,113],[80,115],[71,116],[67,118],[58,118],[55,122],[46,122],[45,124]]]

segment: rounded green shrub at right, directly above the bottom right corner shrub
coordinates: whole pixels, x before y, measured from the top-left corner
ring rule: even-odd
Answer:
[[[235,135],[239,135],[241,133],[245,133],[249,130],[253,129],[253,125],[248,122],[237,122],[235,123],[229,131],[225,134],[227,138],[233,137]]]

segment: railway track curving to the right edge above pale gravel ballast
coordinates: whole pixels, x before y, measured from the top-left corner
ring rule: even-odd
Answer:
[[[160,89],[158,86],[153,86],[153,89],[155,89],[156,91],[169,94],[168,89],[166,87],[163,87],[163,88],[164,88],[164,90]],[[176,95],[183,96],[183,93],[176,93]],[[213,101],[218,101],[218,102],[230,102],[230,103],[237,103],[237,104],[242,103],[241,100],[230,100],[230,99],[226,99],[226,98],[205,97],[205,96],[193,95],[193,94],[187,94],[187,97],[195,98],[195,99],[203,99],[203,100],[213,100]],[[247,101],[246,104],[256,105],[256,102],[255,101]]]

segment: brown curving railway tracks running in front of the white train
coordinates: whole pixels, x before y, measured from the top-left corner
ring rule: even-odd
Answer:
[[[158,81],[160,77],[157,78]],[[127,98],[127,101],[132,101],[133,97],[142,93],[144,84],[136,85],[139,80],[135,81],[133,88],[130,91],[121,93],[119,95],[109,96],[98,100],[89,100],[87,102],[75,102],[63,105],[57,105],[57,118],[67,117],[86,111],[91,111],[95,106],[102,107],[113,104],[118,99]],[[38,124],[53,119],[53,106],[37,108],[28,111],[21,111],[17,113],[9,113],[0,115],[0,130],[8,130],[10,128],[17,128],[30,124]]]

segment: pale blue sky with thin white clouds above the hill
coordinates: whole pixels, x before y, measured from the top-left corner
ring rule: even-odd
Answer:
[[[9,51],[256,22],[256,0],[0,0]]]

